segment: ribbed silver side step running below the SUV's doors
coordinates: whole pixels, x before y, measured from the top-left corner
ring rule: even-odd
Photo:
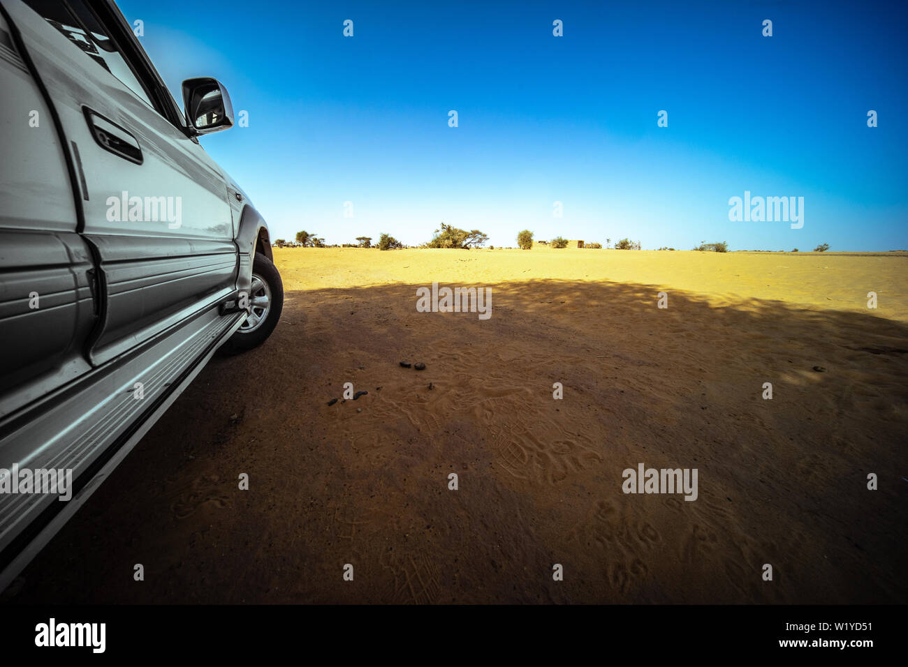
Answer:
[[[3,425],[0,467],[71,469],[73,497],[0,494],[0,591],[92,495],[242,320],[240,314],[222,318],[209,309],[128,360],[114,359],[80,378],[45,402],[50,407],[40,417],[13,417],[18,428]],[[86,397],[94,397],[91,405]]]

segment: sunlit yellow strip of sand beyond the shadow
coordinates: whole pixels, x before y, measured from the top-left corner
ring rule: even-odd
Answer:
[[[908,253],[694,252],[657,250],[274,249],[287,289],[394,282],[490,285],[522,280],[634,282],[681,289],[710,302],[774,299],[819,309],[908,319]],[[655,299],[655,297],[654,297]]]

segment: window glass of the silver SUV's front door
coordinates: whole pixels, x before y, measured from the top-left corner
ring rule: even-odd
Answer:
[[[67,3],[61,3],[59,0],[25,0],[25,3],[82,49],[83,53],[94,63],[114,74],[123,85],[142,98],[149,106],[153,106],[142,83],[139,83],[133,70],[123,58],[123,54],[117,51],[114,41],[104,30],[104,26],[98,22],[83,2],[80,0],[69,0]]]

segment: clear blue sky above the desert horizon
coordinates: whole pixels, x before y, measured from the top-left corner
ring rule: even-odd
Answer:
[[[211,75],[248,111],[202,144],[272,238],[908,249],[901,2],[119,5],[178,102]],[[729,221],[745,191],[804,197],[804,227]]]

